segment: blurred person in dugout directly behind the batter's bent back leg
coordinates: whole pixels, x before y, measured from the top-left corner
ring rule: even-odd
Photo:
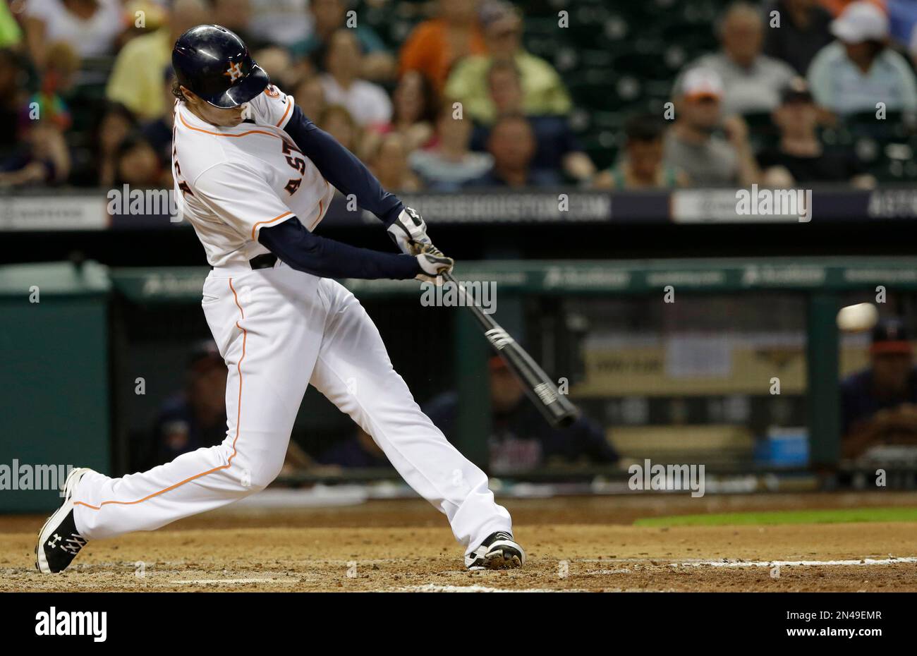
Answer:
[[[212,447],[226,439],[226,362],[216,344],[205,339],[194,344],[188,358],[185,385],[160,406],[139,471],[175,460],[182,453]],[[293,439],[283,463],[284,472],[313,465]]]

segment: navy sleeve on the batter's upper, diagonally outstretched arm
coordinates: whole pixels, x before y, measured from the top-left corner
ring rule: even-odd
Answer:
[[[355,195],[357,204],[379,217],[386,228],[401,214],[404,206],[398,196],[382,189],[356,155],[306,118],[298,106],[283,129],[329,183],[344,195]]]

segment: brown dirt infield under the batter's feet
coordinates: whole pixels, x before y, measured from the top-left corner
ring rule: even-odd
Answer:
[[[508,499],[529,561],[468,573],[419,500],[226,509],[91,542],[58,576],[33,569],[44,517],[0,517],[0,591],[917,591],[917,525],[631,526],[732,510],[917,506],[917,495],[658,495]]]

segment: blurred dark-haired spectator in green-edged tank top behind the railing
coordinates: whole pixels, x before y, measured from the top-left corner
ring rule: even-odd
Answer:
[[[688,184],[684,172],[664,161],[666,124],[656,115],[639,114],[624,125],[624,158],[595,177],[599,189],[665,189]]]

